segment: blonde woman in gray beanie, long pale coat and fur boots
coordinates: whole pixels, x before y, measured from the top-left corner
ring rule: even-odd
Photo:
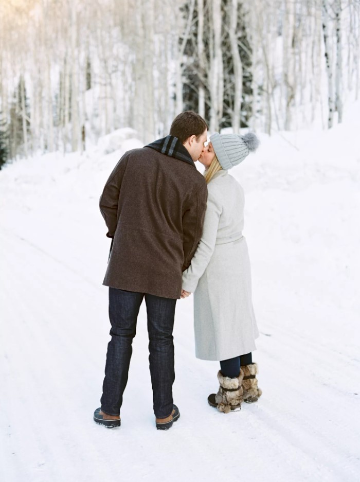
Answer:
[[[183,273],[182,298],[194,293],[196,357],[220,361],[218,393],[208,402],[220,412],[261,395],[251,359],[259,336],[251,302],[247,244],[242,236],[244,191],[228,174],[259,145],[255,134],[213,134],[199,161],[208,184],[203,236]]]

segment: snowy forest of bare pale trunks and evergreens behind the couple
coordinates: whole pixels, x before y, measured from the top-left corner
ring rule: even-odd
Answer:
[[[186,109],[211,132],[331,128],[359,42],[358,0],[2,0],[0,159],[147,142]]]

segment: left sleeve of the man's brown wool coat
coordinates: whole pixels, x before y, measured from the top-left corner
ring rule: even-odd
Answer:
[[[108,238],[114,238],[115,235],[121,182],[127,164],[128,153],[125,153],[110,174],[109,179],[106,181],[100,197],[100,211],[108,229],[106,233]]]

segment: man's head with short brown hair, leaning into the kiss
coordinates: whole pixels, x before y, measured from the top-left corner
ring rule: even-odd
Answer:
[[[185,111],[175,117],[170,135],[177,137],[189,151],[192,160],[199,159],[207,140],[208,125],[196,112]]]

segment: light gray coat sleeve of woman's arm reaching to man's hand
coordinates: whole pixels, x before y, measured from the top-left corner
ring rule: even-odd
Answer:
[[[214,252],[221,210],[221,205],[215,200],[214,195],[209,192],[203,235],[191,260],[190,266],[183,273],[182,288],[190,293],[195,291],[197,283],[203,276],[212,253]]]

